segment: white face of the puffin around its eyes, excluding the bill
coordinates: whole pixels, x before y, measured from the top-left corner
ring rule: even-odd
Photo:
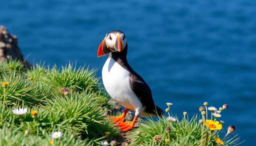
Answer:
[[[121,39],[121,43],[122,43],[122,50],[125,48],[125,46],[126,46],[126,38],[125,38],[125,36],[124,36],[124,34],[118,34],[119,36],[120,36],[120,39]],[[115,46],[114,46],[114,44],[115,44],[115,42],[116,42],[116,39],[117,39],[117,35],[115,35],[115,34],[113,34],[113,33],[111,33],[111,34],[108,34],[107,36],[106,36],[106,44],[107,44],[107,46],[109,46],[109,48],[112,50],[112,51],[116,51],[116,49],[115,49]],[[122,51],[121,50],[121,51]]]

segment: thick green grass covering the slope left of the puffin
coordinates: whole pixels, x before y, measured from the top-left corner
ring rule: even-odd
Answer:
[[[50,145],[53,140],[57,146],[87,146],[120,135],[103,110],[110,106],[109,96],[101,88],[95,69],[36,64],[29,71],[23,70],[16,60],[0,64],[0,83],[9,83],[0,87],[0,145]],[[60,93],[63,87],[69,89],[68,95]],[[28,111],[18,116],[12,112],[15,108]],[[35,119],[32,110],[38,111]],[[53,139],[54,131],[63,135]],[[111,132],[109,136],[105,135],[107,131]]]

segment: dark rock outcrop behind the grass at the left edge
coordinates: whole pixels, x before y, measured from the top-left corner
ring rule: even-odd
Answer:
[[[10,34],[4,26],[0,26],[0,62],[10,58],[24,61],[18,47],[17,36]],[[27,61],[24,64],[29,69],[32,67]]]

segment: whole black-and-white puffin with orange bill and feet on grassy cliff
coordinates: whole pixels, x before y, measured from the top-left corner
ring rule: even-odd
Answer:
[[[102,68],[103,85],[107,93],[125,109],[120,116],[108,118],[113,123],[118,123],[124,132],[134,127],[139,116],[156,117],[164,114],[164,111],[155,105],[148,84],[128,64],[127,51],[125,34],[121,31],[111,31],[101,42],[97,55],[102,57],[109,54]],[[135,112],[131,123],[124,122],[129,110]]]

